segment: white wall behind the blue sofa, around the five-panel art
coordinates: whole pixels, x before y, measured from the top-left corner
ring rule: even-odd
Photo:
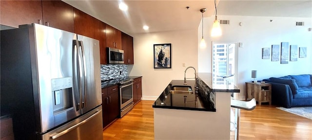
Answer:
[[[211,72],[212,41],[242,42],[243,48],[238,48],[236,73],[241,99],[245,95],[245,82],[253,80],[252,70],[257,70],[257,80],[292,74],[312,74],[312,32],[308,31],[308,28],[312,28],[312,18],[218,16],[218,19],[230,20],[230,25],[221,25],[223,35],[212,38],[210,32],[214,17],[204,18],[204,39],[207,48],[198,47],[198,71]],[[296,21],[304,21],[305,26],[296,27]],[[239,26],[239,22],[243,25]],[[201,25],[198,26],[197,35],[198,38],[201,37]],[[199,41],[197,39],[198,43]],[[262,59],[262,48],[271,48],[271,45],[280,45],[281,42],[307,47],[307,58],[298,58],[297,61],[288,64]]]

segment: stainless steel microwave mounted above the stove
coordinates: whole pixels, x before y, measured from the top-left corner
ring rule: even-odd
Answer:
[[[108,64],[124,64],[123,50],[107,47],[107,63]]]

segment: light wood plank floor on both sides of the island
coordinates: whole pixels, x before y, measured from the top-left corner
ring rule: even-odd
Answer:
[[[154,140],[153,103],[137,103],[103,131],[103,140]],[[312,120],[275,107],[264,104],[241,110],[239,140],[312,140]]]

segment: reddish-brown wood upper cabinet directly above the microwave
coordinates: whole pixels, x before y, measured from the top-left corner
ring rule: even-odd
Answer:
[[[110,25],[106,25],[106,47],[122,49],[121,31]]]

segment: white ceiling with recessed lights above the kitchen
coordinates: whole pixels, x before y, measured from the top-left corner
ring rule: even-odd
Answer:
[[[118,9],[120,0],[63,1],[130,35],[197,29],[201,8],[207,8],[204,17],[215,16],[214,0],[123,0],[129,7],[126,13]],[[216,0],[216,3],[217,15],[312,18],[312,0]],[[144,31],[143,25],[150,29]]]

